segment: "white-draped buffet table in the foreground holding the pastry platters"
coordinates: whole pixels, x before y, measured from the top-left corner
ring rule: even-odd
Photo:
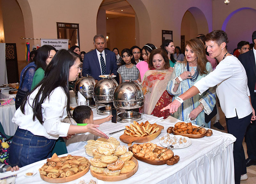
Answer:
[[[94,119],[104,118],[106,116],[101,116],[95,113],[94,111]],[[179,120],[169,117],[166,120],[161,118],[157,118],[150,115],[143,115],[143,122],[149,121],[150,123],[154,123],[157,121],[157,124],[164,126],[164,130],[158,136],[163,136],[166,133],[166,129],[170,126],[174,126],[176,122]],[[142,122],[138,121],[138,122]],[[105,122],[100,125],[99,129],[106,133],[114,132],[117,130],[124,129],[125,125],[129,125],[129,123],[112,123]],[[139,161],[139,169],[138,171],[131,176],[122,181],[116,182],[107,182],[98,180],[98,184],[102,183],[149,183],[149,184],[165,184],[165,183],[173,183],[173,184],[184,184],[184,183],[219,183],[219,184],[233,184],[234,182],[234,164],[233,164],[233,143],[236,138],[230,134],[222,133],[220,131],[212,130],[213,135],[209,137],[203,137],[199,139],[191,139],[192,144],[187,148],[182,149],[174,149],[174,155],[180,156],[180,161],[173,165],[161,165],[154,166],[147,164],[145,162]],[[121,136],[124,132],[118,132],[113,134],[112,136],[119,140],[119,136]],[[158,137],[152,140],[152,143],[159,144]],[[125,145],[127,148],[127,144],[120,142],[121,145]],[[88,159],[91,157],[85,154],[84,149],[76,150],[71,153],[71,155],[84,156]],[[63,155],[64,156],[64,155]],[[46,163],[46,160],[41,160],[36,163],[30,164],[28,166],[24,166],[20,168],[20,171],[15,173],[0,173],[0,178],[12,174],[18,174],[16,178],[16,183],[33,183],[33,184],[41,184],[48,183],[40,178],[39,172],[31,178],[26,178],[25,173],[31,172],[33,170],[38,171],[38,169]],[[83,178],[93,178],[90,171],[86,173]],[[67,184],[78,184],[80,179],[76,179],[70,182],[66,182]]]

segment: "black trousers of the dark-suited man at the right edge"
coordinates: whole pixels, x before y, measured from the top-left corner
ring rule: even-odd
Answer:
[[[256,110],[256,93],[254,93],[254,100],[252,102],[252,107],[254,108],[254,110]],[[247,146],[247,154],[248,154],[248,157],[251,158],[252,160],[256,160],[255,135],[256,135],[256,120],[252,121],[252,123],[249,124],[244,136],[246,146]]]

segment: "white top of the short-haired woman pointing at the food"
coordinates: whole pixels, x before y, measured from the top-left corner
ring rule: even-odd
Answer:
[[[233,55],[227,56],[216,69],[198,81],[194,86],[199,94],[217,85],[216,93],[220,107],[227,118],[241,119],[252,113],[247,86],[247,77],[241,62]]]

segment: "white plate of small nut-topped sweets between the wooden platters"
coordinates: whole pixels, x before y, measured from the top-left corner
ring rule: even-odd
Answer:
[[[182,143],[180,143],[180,142],[182,142]],[[187,148],[188,146],[190,146],[192,144],[192,141],[188,137],[184,137],[184,136],[180,136],[180,135],[174,136],[174,135],[167,133],[164,136],[159,137],[159,143],[164,147],[173,145],[173,149],[180,149],[180,148]]]

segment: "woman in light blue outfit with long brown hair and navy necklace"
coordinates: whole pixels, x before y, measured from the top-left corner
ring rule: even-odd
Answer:
[[[174,66],[176,77],[169,81],[167,91],[174,95],[174,99],[201,78],[212,71],[212,65],[205,56],[204,44],[201,40],[193,38],[186,42],[185,59]],[[174,100],[172,99],[172,100]],[[210,114],[216,103],[215,87],[209,88],[206,92],[185,100],[173,116],[181,121],[192,121],[197,125],[205,124],[210,128],[211,123],[205,122],[204,113]]]

